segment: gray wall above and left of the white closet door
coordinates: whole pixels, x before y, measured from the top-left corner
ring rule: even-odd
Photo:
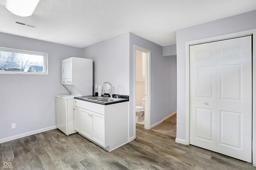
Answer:
[[[256,10],[176,31],[177,45],[177,138],[185,130],[185,42],[256,28]]]

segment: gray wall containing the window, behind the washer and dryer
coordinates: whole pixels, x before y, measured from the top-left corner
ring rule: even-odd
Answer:
[[[5,33],[0,47],[48,53],[48,75],[0,74],[0,140],[55,126],[55,96],[69,94],[60,84],[61,60],[82,57],[82,49]]]

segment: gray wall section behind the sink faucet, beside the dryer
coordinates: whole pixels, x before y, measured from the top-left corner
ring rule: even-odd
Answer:
[[[93,59],[94,85],[110,82],[114,94],[129,95],[129,33],[85,47],[83,55]],[[95,92],[98,92],[96,87]]]

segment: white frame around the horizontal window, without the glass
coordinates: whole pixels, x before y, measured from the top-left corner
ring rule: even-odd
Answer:
[[[0,47],[0,51],[43,56],[43,72],[0,71],[0,74],[38,74],[38,75],[48,74],[48,53],[41,53],[36,51],[27,51],[27,50],[20,50],[20,49],[11,49],[11,48],[5,48],[5,47]]]

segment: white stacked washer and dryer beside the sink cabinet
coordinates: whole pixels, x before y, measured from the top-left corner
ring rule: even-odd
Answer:
[[[61,61],[61,84],[70,94],[56,96],[56,124],[66,135],[74,129],[74,97],[91,96],[93,90],[92,59],[70,57]]]

